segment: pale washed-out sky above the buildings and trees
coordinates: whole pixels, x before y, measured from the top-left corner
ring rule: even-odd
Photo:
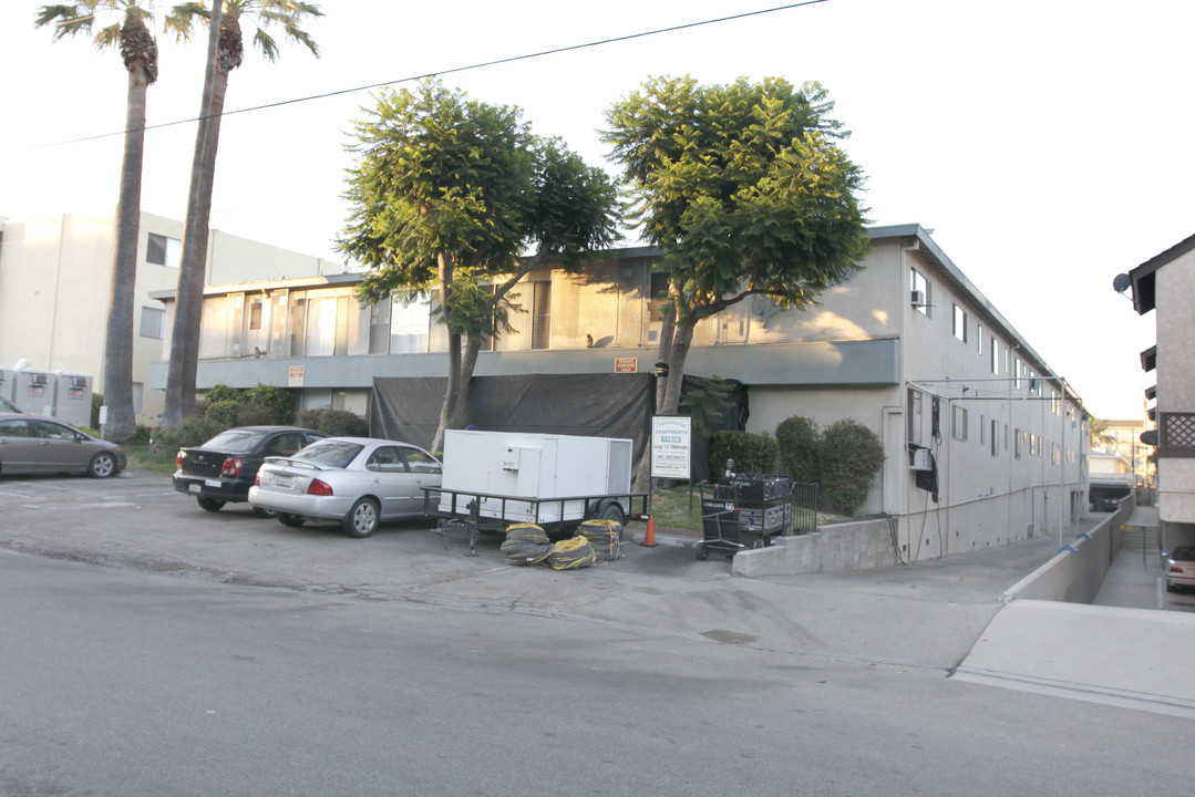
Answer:
[[[870,221],[931,229],[1089,411],[1142,417],[1153,375],[1138,354],[1153,343],[1153,315],[1138,317],[1111,282],[1195,233],[1195,4],[827,0],[449,72],[779,5],[330,1],[308,25],[321,57],[296,45],[272,65],[247,54],[226,111],[441,73],[613,170],[603,112],[649,75],[816,80],[853,133],[844,146],[868,174]],[[0,4],[0,216],[110,209],[127,74],[115,51],[51,43],[33,27],[38,6]],[[194,118],[206,37],[179,45],[160,33],[159,44],[149,124]],[[212,226],[341,262],[343,145],[372,104],[355,91],[227,116]],[[102,137],[80,141],[90,136]],[[185,216],[194,143],[194,123],[148,133],[145,210]]]

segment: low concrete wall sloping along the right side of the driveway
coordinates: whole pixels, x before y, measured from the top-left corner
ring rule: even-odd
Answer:
[[[1109,515],[1091,532],[1073,540],[1053,559],[1013,584],[1001,600],[1017,599],[1066,601],[1090,603],[1099,591],[1113,559],[1120,551],[1123,532],[1136,507],[1133,496],[1120,503],[1120,509]]]

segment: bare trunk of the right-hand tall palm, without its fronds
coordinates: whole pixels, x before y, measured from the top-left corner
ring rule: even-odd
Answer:
[[[208,70],[203,81],[200,125],[191,160],[191,186],[186,200],[183,233],[183,262],[174,296],[174,325],[170,337],[170,364],[166,374],[165,425],[174,425],[195,410],[195,382],[200,358],[200,329],[203,317],[203,286],[207,282],[208,234],[212,221],[212,190],[215,183],[216,147],[220,141],[220,114],[223,111],[228,72],[220,68],[221,0],[213,0],[208,38]]]

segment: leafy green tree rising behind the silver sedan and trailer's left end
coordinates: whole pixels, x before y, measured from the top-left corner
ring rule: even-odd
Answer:
[[[384,91],[355,125],[351,214],[339,250],[372,271],[358,298],[439,293],[448,330],[448,390],[433,449],[467,423],[467,390],[484,339],[510,332],[511,289],[533,269],[583,258],[617,239],[617,191],[557,139],[532,135],[516,108],[439,81]],[[522,257],[527,251],[531,257]]]

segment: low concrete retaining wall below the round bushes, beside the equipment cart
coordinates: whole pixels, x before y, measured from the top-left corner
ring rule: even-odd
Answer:
[[[897,564],[891,527],[883,517],[834,523],[811,534],[779,537],[766,548],[741,551],[731,559],[736,576],[789,576],[801,572],[870,570]]]

